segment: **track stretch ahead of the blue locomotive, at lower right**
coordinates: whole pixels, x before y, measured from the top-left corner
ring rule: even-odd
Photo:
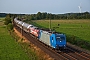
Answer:
[[[78,60],[82,59],[82,60],[90,60],[90,54],[84,52],[84,51],[80,51],[80,50],[76,50],[74,48],[71,48],[69,46],[67,46],[67,51],[65,52],[73,52],[73,54],[71,53],[67,53],[69,55],[72,55],[73,57],[77,58]]]

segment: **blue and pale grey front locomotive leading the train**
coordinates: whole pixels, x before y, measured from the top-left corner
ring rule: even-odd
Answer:
[[[40,30],[39,40],[55,49],[66,47],[66,36],[64,34]]]

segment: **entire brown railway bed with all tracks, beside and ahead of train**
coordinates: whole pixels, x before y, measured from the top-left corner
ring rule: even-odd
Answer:
[[[15,27],[19,32],[21,32],[21,29],[19,27]],[[76,50],[70,46],[67,46],[67,49],[65,50],[54,50],[42,42],[38,41],[38,39],[34,38],[33,35],[28,34],[23,31],[23,36],[25,36],[30,42],[35,44],[37,47],[39,47],[41,50],[43,50],[45,53],[50,55],[54,60],[90,60],[90,54]]]

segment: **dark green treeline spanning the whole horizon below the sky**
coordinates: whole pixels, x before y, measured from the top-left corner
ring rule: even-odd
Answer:
[[[0,17],[9,15],[10,17],[18,17],[25,20],[42,20],[42,19],[90,19],[90,13],[66,13],[66,14],[51,14],[47,12],[38,12],[37,14],[2,14],[0,13]]]

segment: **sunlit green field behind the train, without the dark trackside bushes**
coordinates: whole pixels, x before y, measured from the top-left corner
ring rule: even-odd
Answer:
[[[34,22],[38,26],[49,28],[48,20],[37,20]],[[58,24],[60,24],[60,26],[58,26]],[[51,29],[90,41],[90,20],[52,20]]]

